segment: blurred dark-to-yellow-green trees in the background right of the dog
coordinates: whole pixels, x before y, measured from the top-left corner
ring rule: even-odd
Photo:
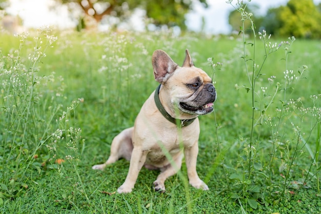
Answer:
[[[253,1],[255,4],[255,1]],[[285,6],[270,8],[264,16],[256,14],[255,5],[246,8],[253,15],[256,31],[265,29],[268,34],[296,38],[320,38],[321,37],[321,4],[318,6],[313,0],[289,0]],[[237,19],[237,11],[229,15],[229,23],[233,30],[239,31],[240,21]],[[249,23],[245,26],[249,29]]]

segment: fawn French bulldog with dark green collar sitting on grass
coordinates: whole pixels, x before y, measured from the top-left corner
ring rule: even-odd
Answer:
[[[163,50],[154,51],[152,65],[160,85],[142,106],[134,126],[113,139],[106,163],[92,168],[102,170],[118,159],[129,160],[128,174],[118,193],[132,191],[143,166],[159,169],[160,174],[152,186],[155,191],[164,192],[165,180],[177,173],[185,155],[189,183],[208,190],[196,171],[197,116],[213,111],[216,91],[212,79],[194,66],[188,50],[182,67]]]

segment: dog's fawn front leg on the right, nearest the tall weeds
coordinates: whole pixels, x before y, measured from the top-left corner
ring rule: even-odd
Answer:
[[[197,189],[201,188],[204,190],[208,190],[208,186],[204,183],[204,181],[199,179],[196,171],[198,143],[196,142],[193,146],[184,148],[184,154],[186,159],[186,168],[189,183]]]

